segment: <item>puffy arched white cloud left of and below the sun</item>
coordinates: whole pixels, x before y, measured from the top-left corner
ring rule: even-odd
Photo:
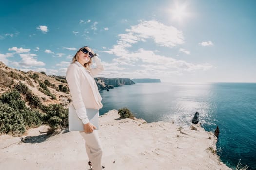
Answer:
[[[124,56],[128,53],[128,47],[138,41],[145,42],[146,39],[153,39],[159,46],[174,47],[184,43],[183,33],[173,26],[166,26],[158,21],[141,21],[125,30],[127,33],[119,34],[118,44],[109,51],[104,51],[117,56]]]

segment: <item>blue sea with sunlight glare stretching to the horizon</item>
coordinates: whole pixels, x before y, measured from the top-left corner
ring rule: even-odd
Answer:
[[[127,107],[149,123],[189,126],[197,111],[206,131],[220,129],[220,159],[233,169],[241,159],[256,170],[256,83],[137,83],[100,93],[100,115]]]

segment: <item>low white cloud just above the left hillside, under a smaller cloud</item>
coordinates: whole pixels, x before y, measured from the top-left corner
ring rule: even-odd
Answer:
[[[37,61],[36,54],[20,54],[22,60],[18,63],[21,67],[44,66],[45,63]]]

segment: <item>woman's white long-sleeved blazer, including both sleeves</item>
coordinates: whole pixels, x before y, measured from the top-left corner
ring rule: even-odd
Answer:
[[[104,70],[100,59],[95,56],[93,58],[96,68],[86,70],[79,62],[69,65],[66,72],[66,79],[71,93],[72,103],[76,113],[83,124],[89,122],[87,118],[86,108],[101,109],[101,96],[93,76]]]

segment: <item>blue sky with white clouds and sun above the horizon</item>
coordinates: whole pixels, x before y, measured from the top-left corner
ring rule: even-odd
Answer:
[[[89,46],[104,65],[98,77],[256,82],[255,9],[256,0],[1,0],[0,61],[65,76]]]

